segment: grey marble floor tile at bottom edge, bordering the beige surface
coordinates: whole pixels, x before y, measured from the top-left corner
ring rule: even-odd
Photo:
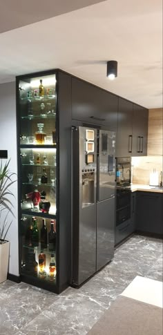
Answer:
[[[93,298],[72,292],[62,296],[18,334],[85,335],[105,310]]]

